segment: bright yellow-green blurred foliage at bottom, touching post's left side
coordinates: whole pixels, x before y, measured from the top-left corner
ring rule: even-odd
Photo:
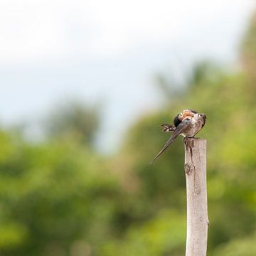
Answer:
[[[178,221],[177,221],[178,220]],[[186,216],[160,211],[143,225],[132,225],[122,242],[109,242],[102,255],[174,255],[186,243]]]

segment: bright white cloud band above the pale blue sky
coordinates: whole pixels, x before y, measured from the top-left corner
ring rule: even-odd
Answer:
[[[249,0],[1,1],[0,61],[105,58],[137,46],[193,41],[209,26],[221,36],[225,16],[238,21],[252,6]],[[228,26],[232,32],[236,24]]]

